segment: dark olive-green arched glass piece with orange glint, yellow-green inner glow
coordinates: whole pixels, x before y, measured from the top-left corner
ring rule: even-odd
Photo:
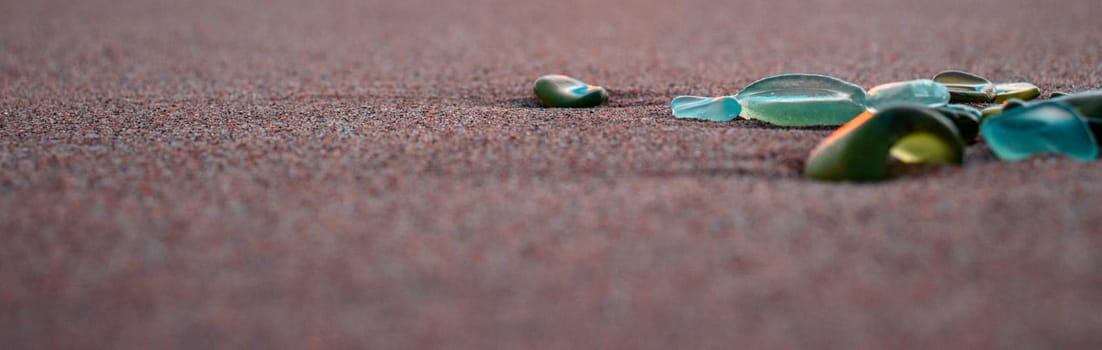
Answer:
[[[894,158],[894,162],[889,162]],[[880,181],[889,163],[960,164],[964,157],[952,121],[918,106],[865,111],[839,128],[811,151],[803,174],[820,181]]]

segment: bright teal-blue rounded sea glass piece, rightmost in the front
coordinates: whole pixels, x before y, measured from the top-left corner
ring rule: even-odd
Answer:
[[[987,146],[1004,161],[1034,154],[1060,153],[1077,161],[1091,161],[1099,145],[1087,121],[1068,105],[1045,101],[1006,110],[980,125]]]

